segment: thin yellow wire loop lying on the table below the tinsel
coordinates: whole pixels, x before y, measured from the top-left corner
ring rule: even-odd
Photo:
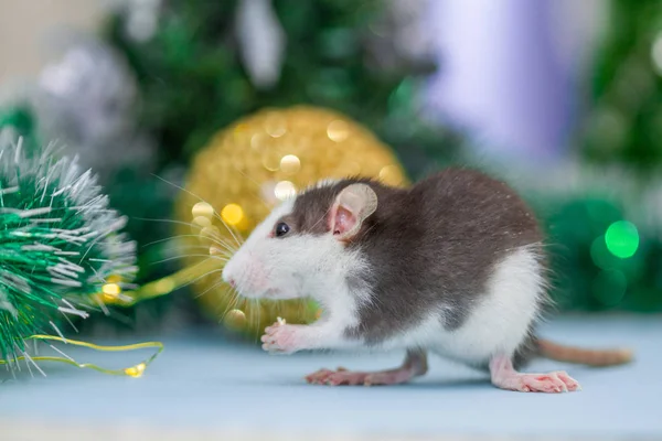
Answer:
[[[62,342],[62,343],[71,344],[74,346],[89,347],[90,349],[100,351],[100,352],[136,351],[136,349],[143,349],[143,348],[148,348],[148,347],[157,348],[157,352],[154,354],[152,354],[152,356],[147,358],[145,362],[141,362],[137,365],[134,365],[131,367],[127,367],[124,369],[106,369],[104,367],[99,367],[92,363],[78,363],[75,359],[67,358],[67,357],[55,357],[55,356],[34,356],[34,357],[20,356],[20,357],[17,357],[17,361],[31,359],[33,362],[66,363],[72,366],[79,367],[82,369],[88,368],[88,369],[94,369],[94,370],[100,372],[102,374],[126,375],[126,376],[134,377],[134,378],[141,377],[142,374],[145,373],[145,369],[147,369],[147,366],[149,366],[149,364],[152,363],[159,356],[159,354],[163,351],[163,343],[161,343],[161,342],[136,343],[136,344],[124,345],[124,346],[100,346],[100,345],[95,345],[92,343],[79,342],[76,340],[57,337],[54,335],[41,335],[41,334],[31,335],[26,340]],[[6,365],[8,363],[9,363],[8,361],[0,359],[0,365]]]

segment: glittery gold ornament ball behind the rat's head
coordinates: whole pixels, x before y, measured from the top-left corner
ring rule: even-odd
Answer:
[[[177,216],[189,255],[185,265],[217,259],[218,270],[193,284],[202,308],[220,322],[259,336],[278,316],[309,323],[319,316],[310,301],[246,301],[221,280],[237,238],[282,200],[321,179],[369,176],[391,185],[408,180],[391,149],[361,125],[323,108],[265,109],[214,136],[195,157]],[[221,220],[223,219],[223,222]],[[224,225],[225,224],[225,225]],[[232,232],[231,232],[232,230]],[[192,237],[193,236],[193,237]],[[197,251],[196,251],[197,250]],[[206,257],[209,255],[210,257]]]

